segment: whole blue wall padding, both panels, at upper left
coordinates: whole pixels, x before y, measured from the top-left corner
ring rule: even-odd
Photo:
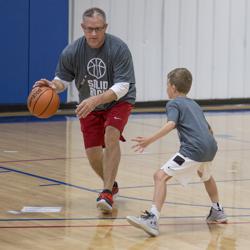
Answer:
[[[25,104],[34,82],[53,79],[68,43],[68,0],[0,0],[0,105]],[[66,103],[66,92],[60,94]]]

